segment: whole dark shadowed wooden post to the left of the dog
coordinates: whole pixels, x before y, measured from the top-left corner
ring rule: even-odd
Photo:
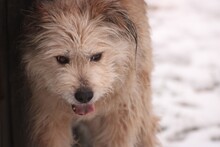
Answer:
[[[17,39],[31,0],[0,0],[0,147],[25,147]]]

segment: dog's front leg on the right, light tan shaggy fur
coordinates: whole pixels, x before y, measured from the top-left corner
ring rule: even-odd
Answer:
[[[138,128],[126,110],[114,112],[101,119],[96,130],[94,147],[135,147]]]

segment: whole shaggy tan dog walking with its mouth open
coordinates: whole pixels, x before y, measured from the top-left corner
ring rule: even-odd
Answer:
[[[144,0],[35,2],[22,43],[30,147],[156,146],[145,8]]]

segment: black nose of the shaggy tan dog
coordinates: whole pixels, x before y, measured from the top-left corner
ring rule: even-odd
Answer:
[[[90,88],[79,88],[75,93],[75,98],[80,103],[87,103],[93,97],[93,91]]]

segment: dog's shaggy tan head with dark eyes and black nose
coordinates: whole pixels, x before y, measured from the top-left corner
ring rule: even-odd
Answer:
[[[23,59],[35,89],[92,104],[123,86],[135,67],[135,28],[115,0],[45,1],[30,20]]]

